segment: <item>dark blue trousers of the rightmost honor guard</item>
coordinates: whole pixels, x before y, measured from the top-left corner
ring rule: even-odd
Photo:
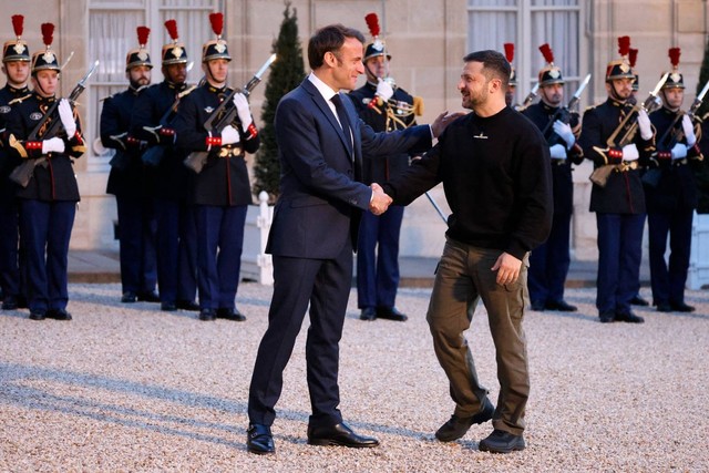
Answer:
[[[693,210],[690,208],[648,214],[650,281],[655,305],[685,301],[692,218]],[[665,261],[668,235],[669,268]]]

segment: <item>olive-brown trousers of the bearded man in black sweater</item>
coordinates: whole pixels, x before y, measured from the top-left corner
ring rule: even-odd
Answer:
[[[448,238],[433,282],[427,320],[433,349],[450,382],[454,414],[471,417],[482,408],[487,390],[480,383],[475,363],[463,332],[470,328],[480,299],[487,309],[490,332],[495,343],[500,397],[493,415],[494,429],[514,434],[524,431],[530,397],[527,350],[522,320],[525,310],[525,257],[520,278],[512,285],[496,282],[492,268],[502,254]]]

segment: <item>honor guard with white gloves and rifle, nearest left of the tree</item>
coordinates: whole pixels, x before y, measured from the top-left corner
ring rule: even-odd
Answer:
[[[235,299],[246,210],[253,202],[245,153],[258,150],[259,137],[246,95],[226,85],[232,56],[222,39],[224,17],[212,13],[209,22],[217,38],[202,48],[205,81],[183,99],[175,130],[181,147],[205,158],[193,182],[199,319],[243,321],[246,317],[235,307]],[[232,103],[225,102],[227,96]],[[214,123],[233,107],[235,119],[223,130],[206,128],[207,121]]]

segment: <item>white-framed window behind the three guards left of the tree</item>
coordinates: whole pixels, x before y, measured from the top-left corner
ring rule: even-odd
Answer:
[[[185,43],[187,55],[194,66],[187,75],[188,83],[202,76],[202,44],[212,39],[209,13],[224,11],[224,0],[90,0],[88,58],[100,60],[101,65],[91,78],[86,89],[88,111],[84,127],[92,146],[89,152],[89,171],[109,171],[110,154],[99,140],[99,123],[102,100],[125,90],[125,55],[137,48],[136,28],[151,29],[147,48],[153,62],[153,82],[163,80],[161,52],[163,44],[171,42],[164,23],[173,18],[177,21],[179,41]],[[226,35],[226,34],[225,34]]]

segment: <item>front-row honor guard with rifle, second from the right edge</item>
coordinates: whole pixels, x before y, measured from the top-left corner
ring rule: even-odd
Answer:
[[[638,323],[644,319],[630,310],[639,280],[645,220],[638,166],[646,165],[655,152],[655,134],[645,109],[628,101],[635,80],[628,62],[630,39],[621,37],[618,44],[620,59],[606,68],[608,99],[585,112],[578,144],[594,162],[590,212],[596,213],[598,228],[599,319]],[[606,171],[607,179],[596,178]]]

